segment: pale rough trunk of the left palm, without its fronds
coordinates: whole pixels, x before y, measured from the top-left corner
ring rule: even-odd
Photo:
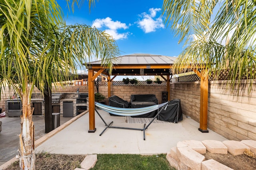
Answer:
[[[19,158],[21,170],[34,170],[34,123],[32,121],[33,109],[30,104],[28,86],[22,94],[22,116],[21,116],[21,134],[19,145]]]

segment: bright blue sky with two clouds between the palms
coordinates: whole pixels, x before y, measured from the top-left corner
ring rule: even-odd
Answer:
[[[57,0],[67,25],[75,23],[96,26],[112,35],[121,55],[146,53],[178,56],[182,44],[161,18],[162,0],[100,0],[91,7],[88,2],[69,12],[66,0]]]

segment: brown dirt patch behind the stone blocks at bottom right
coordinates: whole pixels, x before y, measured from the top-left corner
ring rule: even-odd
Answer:
[[[208,151],[203,155],[206,160],[214,159],[234,170],[256,170],[256,156],[250,151],[236,156],[229,152],[228,154],[216,154]]]

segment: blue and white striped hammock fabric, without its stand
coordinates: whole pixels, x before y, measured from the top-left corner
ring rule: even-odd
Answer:
[[[95,102],[95,106],[99,107],[100,109],[102,109],[104,111],[112,113],[114,115],[137,116],[137,115],[143,115],[143,114],[149,113],[151,111],[154,111],[156,109],[159,109],[160,107],[166,105],[167,103],[168,102],[153,105],[153,106],[148,106],[148,107],[140,107],[140,108],[120,108],[120,107],[107,106],[107,105]]]

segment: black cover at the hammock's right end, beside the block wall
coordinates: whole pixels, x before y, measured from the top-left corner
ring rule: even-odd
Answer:
[[[180,99],[174,99],[168,102],[166,110],[163,109],[161,113],[159,113],[158,120],[174,123],[182,121],[182,109],[180,105]]]

